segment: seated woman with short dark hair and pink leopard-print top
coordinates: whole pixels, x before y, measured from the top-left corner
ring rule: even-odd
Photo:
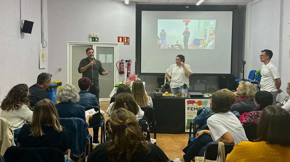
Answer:
[[[242,125],[258,124],[263,109],[273,104],[273,95],[267,91],[258,91],[255,94],[254,102],[258,108],[246,114],[242,121]]]

